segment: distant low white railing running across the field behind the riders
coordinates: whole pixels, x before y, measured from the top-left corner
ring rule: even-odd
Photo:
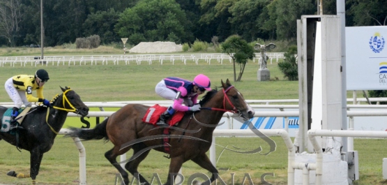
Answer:
[[[277,62],[279,59],[284,58],[283,52],[273,52],[266,53],[272,62],[275,59]],[[260,59],[260,54],[256,53],[253,59]],[[158,61],[160,64],[163,64],[165,61],[169,61],[172,64],[176,61],[182,61],[184,64],[187,64],[188,61],[193,61],[195,64],[199,64],[199,61],[204,61],[207,64],[211,64],[211,61],[216,61],[220,64],[223,64],[223,61],[226,60],[229,63],[232,62],[232,59],[226,53],[202,53],[202,54],[112,54],[112,55],[78,55],[78,56],[45,56],[44,59],[36,59],[35,56],[24,56],[24,57],[0,57],[0,66],[26,66],[31,64],[31,66],[38,65],[56,65],[62,64],[63,66],[67,64],[70,65],[107,65],[114,64],[119,65],[119,62],[124,64],[130,64],[130,61],[135,62],[137,65],[140,65],[142,61],[147,64],[152,64],[154,61]]]

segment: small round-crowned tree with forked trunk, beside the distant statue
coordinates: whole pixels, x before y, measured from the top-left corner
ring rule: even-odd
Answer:
[[[233,35],[229,36],[221,45],[222,52],[229,54],[232,58],[234,66],[234,82],[240,82],[245,66],[248,63],[248,59],[252,59],[254,54],[254,47],[248,45],[246,40],[243,40],[241,36]],[[235,63],[239,64],[239,75],[236,79]]]

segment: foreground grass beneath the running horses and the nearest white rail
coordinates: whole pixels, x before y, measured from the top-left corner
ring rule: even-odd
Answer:
[[[242,184],[245,173],[250,174],[253,182],[259,184],[261,175],[274,173],[274,177],[266,176],[266,181],[271,184],[287,184],[287,149],[279,137],[271,137],[277,144],[277,148],[267,156],[260,154],[238,154],[233,151],[221,151],[224,147],[238,151],[255,149],[259,146],[263,151],[268,150],[266,142],[259,138],[216,138],[217,168],[220,169],[220,177],[231,184],[231,175],[234,173],[235,184]],[[381,163],[386,157],[386,140],[383,139],[355,139],[354,149],[358,151],[360,180],[354,184],[387,184],[382,178]],[[112,143],[104,143],[103,140],[83,142],[86,148],[86,176],[87,184],[113,184],[116,169],[105,159],[105,151],[112,148]],[[220,146],[219,146],[220,145]],[[28,184],[31,179],[16,179],[6,176],[9,170],[17,172],[29,172],[29,152],[18,152],[14,146],[6,142],[0,142],[0,183]],[[221,154],[221,155],[220,155]],[[128,152],[130,157],[131,152]],[[158,173],[161,182],[166,181],[169,159],[158,151],[151,151],[149,156],[139,166],[139,172],[147,179],[151,179],[153,173]],[[204,173],[209,175],[195,163],[184,163],[182,169],[185,175],[185,183],[190,175]],[[70,138],[59,136],[54,146],[43,157],[40,172],[37,177],[39,184],[77,184],[79,177],[79,161],[77,149]],[[131,178],[131,177],[130,177]],[[184,183],[184,184],[185,184]],[[247,182],[245,182],[247,183]]]

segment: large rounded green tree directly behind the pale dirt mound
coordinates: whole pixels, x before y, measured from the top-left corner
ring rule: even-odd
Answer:
[[[185,43],[193,40],[190,28],[190,22],[176,1],[142,0],[120,15],[114,30],[119,36],[127,37],[131,44],[165,40]]]

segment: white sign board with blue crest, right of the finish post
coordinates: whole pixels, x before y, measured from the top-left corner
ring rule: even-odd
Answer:
[[[347,90],[387,89],[387,27],[346,27]]]

